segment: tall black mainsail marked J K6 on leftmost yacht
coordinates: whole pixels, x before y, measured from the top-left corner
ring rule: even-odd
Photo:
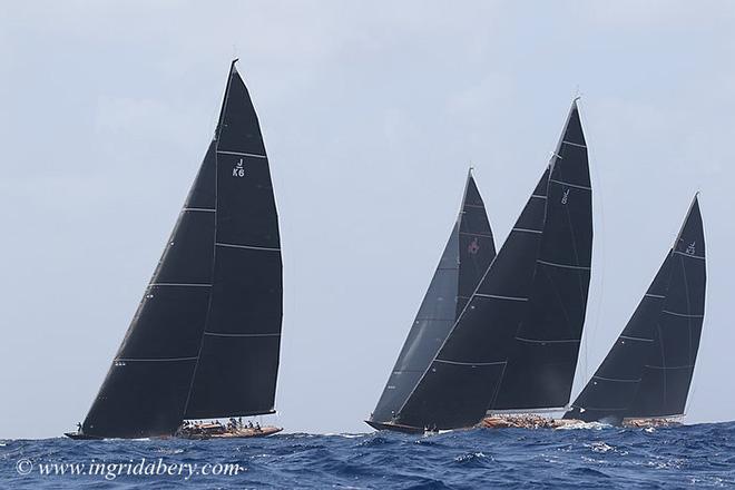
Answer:
[[[217,213],[209,314],[186,418],[274,411],[283,311],[268,159],[233,63],[216,135]]]

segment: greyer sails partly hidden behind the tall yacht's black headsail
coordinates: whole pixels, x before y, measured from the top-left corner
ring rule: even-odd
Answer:
[[[462,208],[444,253],[373,411],[372,427],[391,423],[437,355],[470,294],[496,256],[490,222],[472,174],[468,175]]]

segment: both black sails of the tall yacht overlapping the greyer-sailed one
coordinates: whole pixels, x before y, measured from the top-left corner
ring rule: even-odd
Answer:
[[[587,148],[574,101],[549,168],[394,424],[455,429],[500,404],[520,411],[568,400],[591,235]]]

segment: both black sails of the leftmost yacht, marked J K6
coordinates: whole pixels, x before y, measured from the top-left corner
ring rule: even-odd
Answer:
[[[168,435],[188,416],[273,411],[278,222],[257,116],[235,61],[214,140],[85,419],[85,437]]]

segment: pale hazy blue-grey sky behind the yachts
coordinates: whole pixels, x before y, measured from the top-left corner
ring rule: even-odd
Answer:
[[[0,437],[84,419],[239,57],[281,216],[275,420],[365,431],[467,167],[502,243],[577,89],[595,195],[578,381],[702,190],[688,421],[735,419],[735,3],[39,1],[0,14]]]

